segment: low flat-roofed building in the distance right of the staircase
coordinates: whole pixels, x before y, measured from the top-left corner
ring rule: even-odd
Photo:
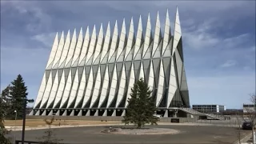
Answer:
[[[219,113],[226,110],[226,106],[222,105],[193,105],[193,110],[201,113]]]

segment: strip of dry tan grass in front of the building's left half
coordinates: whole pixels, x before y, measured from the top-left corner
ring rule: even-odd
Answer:
[[[73,125],[73,126],[78,126],[78,125],[99,125],[99,124],[115,124],[115,123],[121,123],[117,121],[86,121],[86,120],[57,120],[54,121],[53,125],[54,126],[61,126],[63,125]],[[14,120],[6,120],[5,121],[5,126],[15,126],[15,121]],[[17,120],[16,121],[16,126],[22,126],[22,120]],[[43,119],[27,119],[26,120],[26,126],[47,126],[46,122],[44,122]]]

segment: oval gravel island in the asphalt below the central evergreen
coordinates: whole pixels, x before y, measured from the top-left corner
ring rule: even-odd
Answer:
[[[142,134],[179,134],[180,130],[166,129],[166,128],[126,128],[126,127],[109,127],[102,130],[102,133],[106,134],[132,134],[132,135],[142,135]]]

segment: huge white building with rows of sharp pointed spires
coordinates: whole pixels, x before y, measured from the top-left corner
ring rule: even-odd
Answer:
[[[76,30],[72,38],[70,31],[66,38],[63,32],[61,38],[56,34],[30,114],[124,116],[130,89],[139,78],[153,90],[165,116],[172,107],[190,107],[178,9],[173,35],[167,10],[164,30],[158,14],[151,27],[149,14],[145,30],[139,18],[134,36],[133,18],[129,30],[124,20],[121,29],[115,22],[113,32],[108,23],[106,34],[102,25],[98,32],[94,26],[91,35],[88,27],[85,35],[81,28],[78,37]]]

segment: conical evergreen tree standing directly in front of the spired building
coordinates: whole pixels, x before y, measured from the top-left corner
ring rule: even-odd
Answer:
[[[131,98],[128,99],[126,116],[122,122],[134,123],[138,129],[146,123],[157,124],[158,118],[154,116],[157,110],[154,98],[150,96],[151,90],[142,78],[134,83],[131,89]]]

